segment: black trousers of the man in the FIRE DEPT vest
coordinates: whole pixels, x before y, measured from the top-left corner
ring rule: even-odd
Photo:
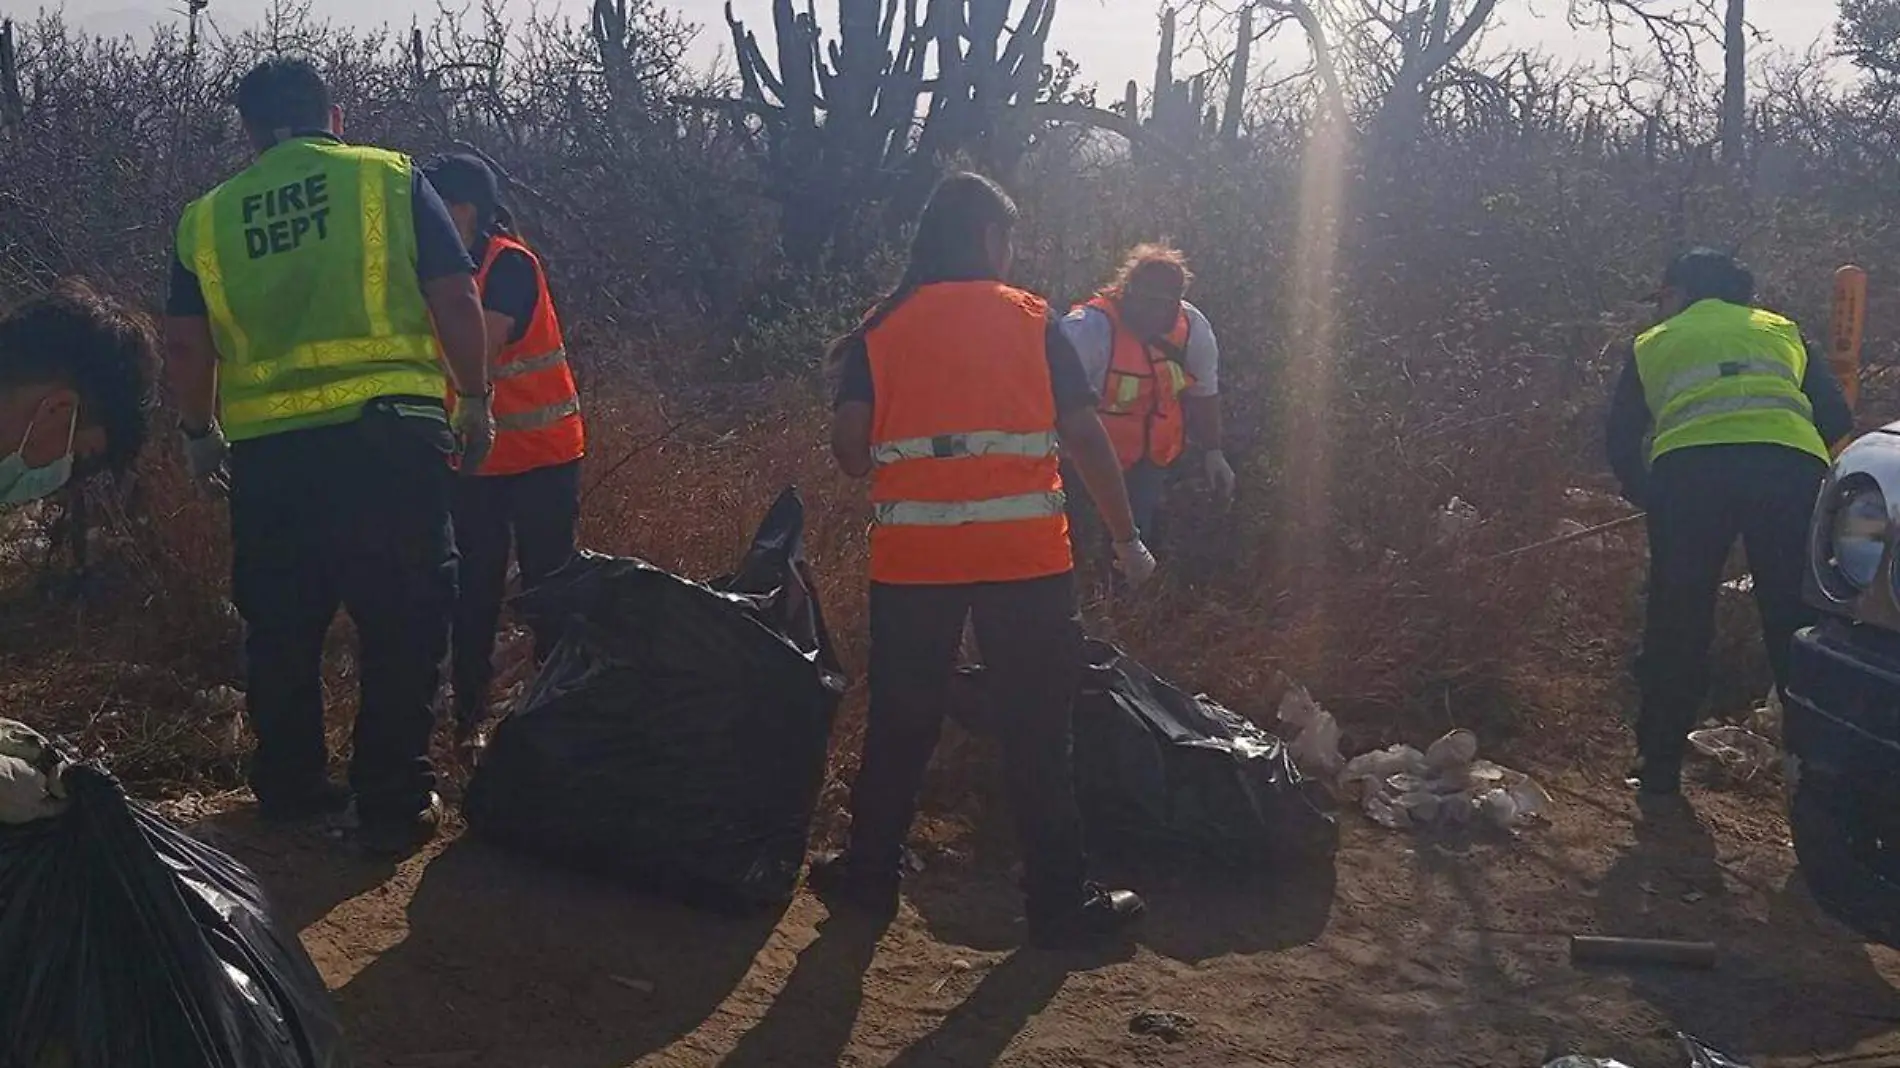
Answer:
[[[353,424],[232,447],[232,591],[247,629],[251,787],[264,806],[323,783],[323,640],[338,606],[359,639],[357,813],[395,821],[428,806],[456,593],[452,448],[446,420],[386,401]]]

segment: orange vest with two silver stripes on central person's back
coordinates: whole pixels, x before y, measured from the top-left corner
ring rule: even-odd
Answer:
[[[1074,566],[1047,336],[1049,306],[1001,281],[923,285],[864,333],[872,582],[1020,582]]]

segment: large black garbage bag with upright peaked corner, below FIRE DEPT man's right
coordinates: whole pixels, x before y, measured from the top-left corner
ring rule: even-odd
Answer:
[[[790,897],[844,675],[785,490],[701,585],[581,553],[515,601],[557,639],[469,783],[486,838],[695,905]]]

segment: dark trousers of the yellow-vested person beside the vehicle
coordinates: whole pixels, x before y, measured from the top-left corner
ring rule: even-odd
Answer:
[[[1649,601],[1638,661],[1645,760],[1678,764],[1708,696],[1708,646],[1729,549],[1740,538],[1754,574],[1775,684],[1788,684],[1794,635],[1814,621],[1801,599],[1807,528],[1828,466],[1778,445],[1708,445],[1668,452],[1649,473]]]

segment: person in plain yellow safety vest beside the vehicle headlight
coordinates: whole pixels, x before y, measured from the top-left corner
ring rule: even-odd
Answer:
[[[1662,321],[1611,346],[1623,378],[1609,409],[1609,466],[1649,509],[1649,597],[1636,665],[1642,709],[1632,785],[1682,791],[1687,735],[1708,692],[1721,570],[1748,551],[1775,684],[1813,616],[1801,599],[1807,528],[1828,445],[1852,412],[1801,329],[1754,306],[1756,279],[1733,257],[1676,257],[1657,291]]]

